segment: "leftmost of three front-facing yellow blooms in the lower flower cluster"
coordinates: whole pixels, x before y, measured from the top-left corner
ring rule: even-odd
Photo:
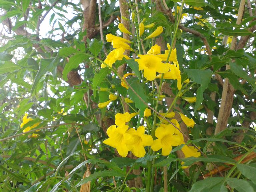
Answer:
[[[127,130],[128,125],[119,127],[112,125],[107,129],[109,138],[103,141],[104,144],[116,148],[117,152],[122,157],[127,156],[128,151],[132,149],[132,144],[134,143],[133,136],[126,133]]]

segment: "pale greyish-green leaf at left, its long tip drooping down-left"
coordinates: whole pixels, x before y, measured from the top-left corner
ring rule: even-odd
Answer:
[[[39,69],[37,71],[36,77],[34,79],[32,88],[31,88],[31,95],[34,93],[35,88],[39,82],[39,80],[48,72],[53,71],[53,69],[57,66],[58,55],[53,59],[41,59],[39,63]]]

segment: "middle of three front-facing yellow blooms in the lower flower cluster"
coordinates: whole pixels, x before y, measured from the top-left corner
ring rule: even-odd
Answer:
[[[127,133],[131,134],[134,139],[131,149],[132,153],[138,158],[144,157],[146,154],[144,147],[150,146],[153,143],[153,138],[151,135],[145,134],[144,126],[139,126],[137,130],[131,128],[127,131]]]

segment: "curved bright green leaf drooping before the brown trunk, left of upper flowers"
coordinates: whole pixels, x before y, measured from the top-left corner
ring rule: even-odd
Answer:
[[[69,58],[69,62],[65,65],[64,70],[62,72],[62,78],[67,81],[68,73],[72,69],[76,69],[83,60],[88,59],[88,56],[83,53],[77,53],[74,56]]]

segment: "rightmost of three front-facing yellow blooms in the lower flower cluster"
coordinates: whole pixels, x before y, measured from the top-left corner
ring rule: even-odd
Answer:
[[[169,155],[172,146],[178,146],[181,139],[178,135],[175,135],[176,128],[169,124],[166,127],[158,127],[155,131],[155,136],[158,138],[153,141],[151,149],[158,151],[162,149],[162,155]]]

